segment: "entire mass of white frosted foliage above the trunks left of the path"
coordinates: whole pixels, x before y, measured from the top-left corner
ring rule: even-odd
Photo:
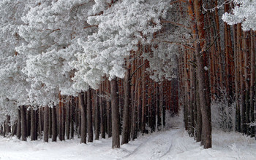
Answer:
[[[169,2],[0,1],[1,117],[20,105],[56,105],[59,93],[76,95],[105,78],[124,78],[132,53],[149,61],[151,79],[175,77],[176,47],[159,41],[176,39],[159,34],[170,31],[161,21],[174,18]]]

